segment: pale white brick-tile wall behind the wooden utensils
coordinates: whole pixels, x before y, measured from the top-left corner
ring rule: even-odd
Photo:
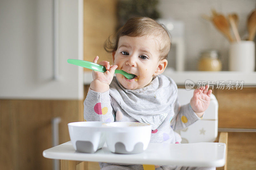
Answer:
[[[185,70],[197,70],[200,52],[217,49],[220,52],[222,70],[228,70],[228,40],[202,14],[211,16],[211,9],[227,16],[236,12],[238,31],[247,34],[247,16],[255,9],[255,0],[159,0],[159,12],[163,19],[181,20],[185,24]]]

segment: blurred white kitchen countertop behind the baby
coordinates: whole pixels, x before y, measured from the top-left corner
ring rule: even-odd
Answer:
[[[195,84],[198,81],[244,81],[243,85],[256,85],[256,71],[254,72],[239,72],[239,71],[173,71],[166,69],[164,75],[172,78],[177,85],[185,85],[186,80],[191,80]],[[89,85],[92,82],[92,71],[84,71],[84,85]]]

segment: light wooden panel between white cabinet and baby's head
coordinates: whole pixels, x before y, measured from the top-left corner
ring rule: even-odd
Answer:
[[[103,44],[116,32],[116,5],[117,0],[84,0],[84,60],[92,62],[98,55],[99,61],[112,62],[111,54],[104,50]]]

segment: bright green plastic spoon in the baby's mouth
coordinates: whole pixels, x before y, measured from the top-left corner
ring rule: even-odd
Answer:
[[[75,64],[78,66],[85,67],[87,69],[95,70],[95,71],[100,71],[100,72],[105,72],[107,71],[106,68],[100,64],[92,63],[89,61],[84,61],[84,60],[76,60],[76,59],[68,59],[68,63],[70,64]],[[123,70],[115,70],[115,73],[123,74],[124,77],[128,79],[132,79],[135,77],[134,74],[129,74]]]

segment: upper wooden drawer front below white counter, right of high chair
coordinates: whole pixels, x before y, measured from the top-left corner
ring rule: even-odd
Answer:
[[[219,103],[219,128],[256,128],[256,88],[215,89]]]

